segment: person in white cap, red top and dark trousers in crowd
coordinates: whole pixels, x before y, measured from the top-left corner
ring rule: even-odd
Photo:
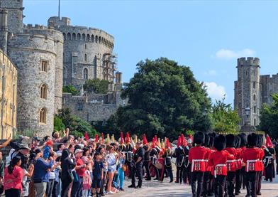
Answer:
[[[76,159],[76,166],[75,171],[77,174],[78,180],[75,180],[72,184],[72,197],[81,197],[82,196],[82,189],[83,189],[83,178],[85,176],[85,171],[87,169],[87,165],[84,164],[82,158],[83,151],[82,149],[76,149],[74,151],[74,156]]]

